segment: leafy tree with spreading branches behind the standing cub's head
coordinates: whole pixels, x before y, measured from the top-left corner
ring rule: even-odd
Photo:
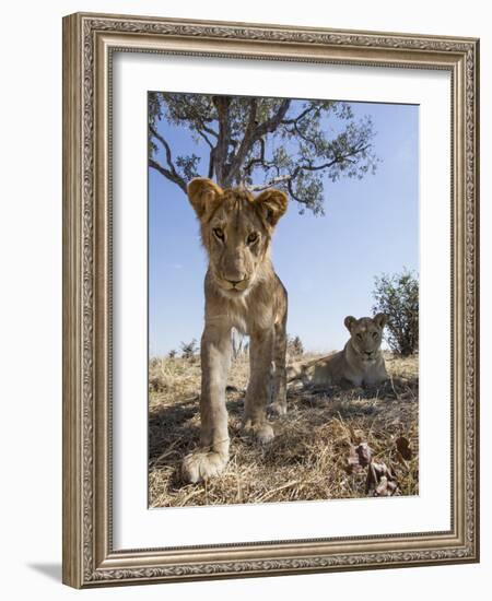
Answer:
[[[175,155],[161,121],[187,128],[208,165],[195,153]],[[254,191],[276,186],[301,213],[323,214],[324,181],[375,172],[373,138],[371,118],[355,120],[343,102],[149,94],[149,166],[185,193],[198,176]]]

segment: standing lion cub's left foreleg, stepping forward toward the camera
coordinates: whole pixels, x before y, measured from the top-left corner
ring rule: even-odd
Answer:
[[[200,449],[183,461],[183,478],[200,482],[219,475],[229,461],[225,385],[231,361],[231,330],[206,325],[201,338]]]

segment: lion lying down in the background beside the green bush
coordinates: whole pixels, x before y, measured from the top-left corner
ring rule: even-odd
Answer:
[[[344,325],[350,340],[343,351],[289,368],[289,380],[302,379],[314,386],[376,386],[388,379],[380,351],[385,314],[374,318],[348,316]]]

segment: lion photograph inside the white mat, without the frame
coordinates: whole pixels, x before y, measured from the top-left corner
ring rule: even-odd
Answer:
[[[150,508],[419,495],[419,127],[148,93]]]

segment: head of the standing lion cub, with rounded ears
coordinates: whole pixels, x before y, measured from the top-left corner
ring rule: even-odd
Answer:
[[[200,220],[216,285],[229,297],[245,295],[261,276],[286,196],[270,189],[255,198],[246,190],[222,190],[210,179],[198,178],[189,184],[188,197]]]

